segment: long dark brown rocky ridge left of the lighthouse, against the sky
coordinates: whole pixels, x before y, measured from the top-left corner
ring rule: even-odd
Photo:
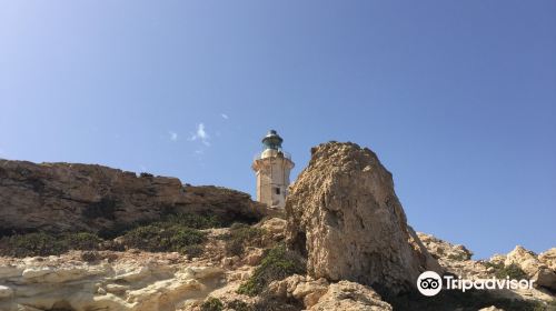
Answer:
[[[0,233],[112,230],[169,212],[210,211],[225,219],[259,219],[249,194],[182,185],[177,178],[136,175],[101,165],[0,160]]]

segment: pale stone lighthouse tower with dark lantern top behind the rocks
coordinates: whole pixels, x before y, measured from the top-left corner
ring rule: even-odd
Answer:
[[[252,161],[257,174],[257,201],[271,208],[284,208],[288,194],[291,157],[281,149],[282,139],[275,130],[262,138],[262,151]]]

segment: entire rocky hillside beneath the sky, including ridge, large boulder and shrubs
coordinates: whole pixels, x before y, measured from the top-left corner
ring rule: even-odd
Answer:
[[[279,217],[225,189],[150,175],[126,175],[122,185],[109,180],[126,173],[102,167],[3,162],[0,310],[556,310],[556,248],[473,260],[464,245],[408,225],[391,174],[370,150],[330,142],[311,153]],[[136,198],[142,187],[155,190]],[[91,220],[102,198],[118,208]],[[36,211],[41,202],[62,202],[59,217],[78,214],[59,220],[53,205]],[[34,224],[44,231],[28,232]],[[425,270],[536,285],[425,298],[415,289]]]

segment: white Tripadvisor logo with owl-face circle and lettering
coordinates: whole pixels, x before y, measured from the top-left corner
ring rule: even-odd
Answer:
[[[512,289],[512,290],[524,290],[524,289],[533,289],[533,283],[535,280],[514,280],[506,277],[506,279],[498,280],[496,278],[490,279],[461,279],[461,277],[454,275],[444,275],[443,278],[438,275],[438,273],[434,271],[425,271],[417,279],[417,289],[424,295],[435,295],[440,292],[444,288],[447,290],[460,290],[465,292],[467,290],[503,290],[503,289]]]

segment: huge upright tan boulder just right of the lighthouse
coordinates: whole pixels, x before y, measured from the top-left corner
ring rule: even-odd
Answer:
[[[367,148],[314,148],[290,188],[286,215],[288,243],[307,255],[315,279],[399,292],[414,288],[425,270],[441,272],[407,225],[390,172]]]

